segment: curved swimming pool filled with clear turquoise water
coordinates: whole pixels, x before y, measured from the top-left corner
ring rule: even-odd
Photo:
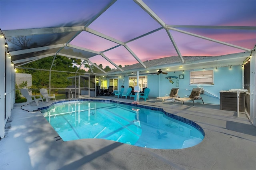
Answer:
[[[196,123],[155,107],[78,99],[39,109],[64,141],[102,138],[147,148],[181,149],[204,138],[204,130]]]

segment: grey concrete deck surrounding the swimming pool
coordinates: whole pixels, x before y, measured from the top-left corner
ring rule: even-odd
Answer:
[[[102,97],[132,103],[130,99]],[[98,99],[98,98],[94,98]],[[216,105],[173,104],[155,99],[142,105],[162,107],[200,125],[204,140],[178,150],[141,148],[102,139],[64,142],[44,119],[35,103],[16,103],[0,140],[1,170],[254,170],[256,127],[246,114],[219,110]],[[48,105],[50,103],[47,103]],[[40,103],[40,107],[47,105]],[[215,109],[214,109],[215,108]]]

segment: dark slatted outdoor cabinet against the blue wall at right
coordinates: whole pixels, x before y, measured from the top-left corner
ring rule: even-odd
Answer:
[[[239,95],[239,111],[244,112],[244,93]],[[236,91],[220,91],[220,110],[237,111],[237,93]]]

